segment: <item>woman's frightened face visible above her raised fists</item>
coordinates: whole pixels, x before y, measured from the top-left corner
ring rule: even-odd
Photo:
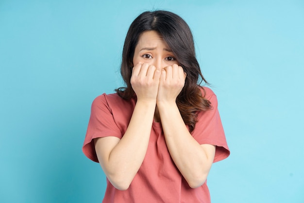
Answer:
[[[163,69],[178,64],[168,44],[156,31],[143,32],[135,47],[133,65],[148,63]]]

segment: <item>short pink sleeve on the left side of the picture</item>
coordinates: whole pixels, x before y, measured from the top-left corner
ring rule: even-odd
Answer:
[[[94,138],[106,136],[121,138],[122,136],[105,96],[106,94],[102,94],[96,97],[92,103],[91,115],[84,139],[83,152],[86,157],[94,162],[98,162]]]

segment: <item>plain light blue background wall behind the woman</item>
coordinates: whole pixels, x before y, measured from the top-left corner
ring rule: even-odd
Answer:
[[[101,202],[91,102],[122,85],[124,37],[151,9],[186,20],[218,95],[231,156],[212,203],[303,203],[303,0],[0,0],[0,202]]]

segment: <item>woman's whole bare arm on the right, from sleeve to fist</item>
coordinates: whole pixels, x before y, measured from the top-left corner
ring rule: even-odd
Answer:
[[[169,153],[190,187],[205,182],[215,156],[215,146],[200,145],[189,133],[176,105],[184,87],[185,74],[173,65],[162,72],[157,95],[157,108]]]

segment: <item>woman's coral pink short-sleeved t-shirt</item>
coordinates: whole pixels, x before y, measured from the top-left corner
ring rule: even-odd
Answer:
[[[217,146],[214,162],[218,162],[227,158],[230,151],[220,121],[217,97],[209,88],[204,87],[204,90],[213,108],[199,112],[191,134],[199,144]],[[102,94],[93,101],[83,146],[89,159],[98,162],[94,138],[121,138],[124,135],[134,107],[134,99],[123,100],[117,93]],[[146,156],[130,187],[121,191],[107,180],[102,203],[210,203],[210,194],[206,182],[195,189],[187,184],[170,157],[161,123],[153,121]]]

